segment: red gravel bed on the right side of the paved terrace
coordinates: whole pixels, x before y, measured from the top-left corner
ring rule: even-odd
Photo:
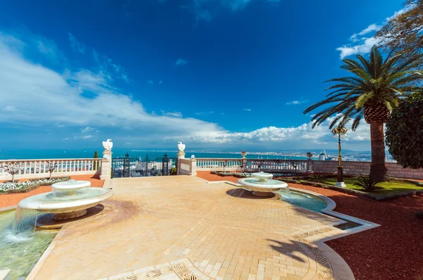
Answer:
[[[197,172],[197,176],[209,181],[238,179],[209,172]],[[381,224],[326,242],[350,265],[355,279],[423,279],[423,219],[414,215],[423,209],[423,196],[376,202],[314,186],[289,185],[332,198],[337,212]]]

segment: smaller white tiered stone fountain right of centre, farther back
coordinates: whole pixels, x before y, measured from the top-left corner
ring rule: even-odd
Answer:
[[[289,188],[286,182],[274,180],[273,174],[259,172],[252,173],[252,177],[238,179],[238,184],[243,185],[244,189],[252,191],[255,196],[272,196],[274,191],[286,189],[289,196]]]

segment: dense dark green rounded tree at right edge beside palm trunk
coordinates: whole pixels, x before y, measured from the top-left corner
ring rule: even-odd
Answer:
[[[423,168],[423,92],[400,101],[386,122],[389,153],[404,168]]]

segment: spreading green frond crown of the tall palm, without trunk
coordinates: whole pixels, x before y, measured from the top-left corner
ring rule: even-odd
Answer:
[[[312,117],[312,127],[335,116],[329,127],[345,125],[353,120],[352,129],[355,130],[364,116],[364,107],[386,104],[392,110],[402,96],[421,89],[418,83],[423,81],[423,71],[415,69],[417,65],[422,65],[422,59],[423,53],[405,59],[396,54],[384,61],[377,46],[372,47],[369,58],[362,55],[355,56],[355,59],[345,58],[341,68],[353,75],[325,81],[333,83],[325,89],[330,91],[329,94],[324,100],[306,108],[304,113],[323,107]]]

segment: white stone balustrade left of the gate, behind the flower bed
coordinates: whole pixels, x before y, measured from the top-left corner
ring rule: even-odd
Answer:
[[[50,176],[49,167],[56,167],[51,177],[96,174],[102,166],[102,158],[0,160],[0,180],[11,180],[12,175],[4,166],[11,164],[18,170],[15,179],[45,178]]]

